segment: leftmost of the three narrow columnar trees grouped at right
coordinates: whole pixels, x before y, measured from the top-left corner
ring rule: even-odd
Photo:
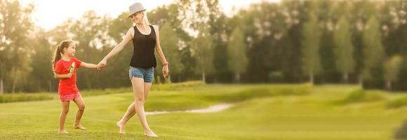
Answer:
[[[309,20],[302,29],[302,71],[309,74],[309,81],[314,83],[314,75],[321,72],[319,41],[321,31],[315,13],[309,13]]]

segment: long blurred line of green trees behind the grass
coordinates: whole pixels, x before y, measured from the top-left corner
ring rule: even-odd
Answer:
[[[407,90],[405,1],[262,1],[225,15],[218,0],[176,0],[150,10],[159,25],[170,77],[155,83],[351,83]],[[88,11],[50,30],[36,27],[33,5],[0,0],[0,92],[55,92],[51,56],[76,41],[76,57],[97,64],[133,26]],[[82,89],[128,87],[133,46],[102,71],[81,69]]]

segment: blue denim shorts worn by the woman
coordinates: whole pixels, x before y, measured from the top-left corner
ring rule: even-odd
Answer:
[[[143,78],[145,83],[152,83],[154,80],[154,67],[151,68],[137,68],[130,66],[128,70],[128,78]]]

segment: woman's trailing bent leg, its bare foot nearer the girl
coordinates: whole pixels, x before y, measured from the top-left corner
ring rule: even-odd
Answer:
[[[152,83],[144,83],[144,99],[147,99],[149,89],[151,88]],[[120,134],[125,134],[124,126],[130,120],[131,117],[135,115],[135,104],[134,102],[128,106],[126,113],[124,113],[124,116],[119,120],[119,122],[116,123],[116,125],[119,127],[119,133]]]

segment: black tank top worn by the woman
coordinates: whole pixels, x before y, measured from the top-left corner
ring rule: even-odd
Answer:
[[[156,57],[154,57],[154,48],[156,46],[156,33],[152,25],[150,34],[141,34],[141,32],[134,28],[133,36],[133,56],[131,57],[130,66],[139,68],[156,67]]]

